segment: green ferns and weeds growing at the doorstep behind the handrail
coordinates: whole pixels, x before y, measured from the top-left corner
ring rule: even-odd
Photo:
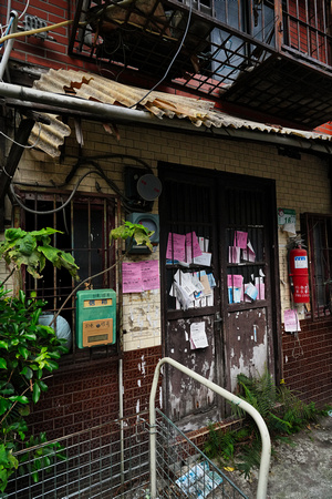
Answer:
[[[313,403],[304,404],[284,384],[276,387],[272,377],[266,369],[258,378],[238,375],[239,397],[251,404],[262,416],[268,427],[272,452],[277,440],[291,442],[290,436],[300,431],[319,416],[328,413],[328,408],[319,411]],[[251,469],[260,464],[261,439],[253,419],[247,416],[239,406],[232,404],[235,415],[245,418],[245,426],[237,431],[225,434],[209,426],[209,437],[205,445],[208,457],[217,458],[221,464],[229,460],[246,478]],[[235,461],[236,458],[236,461]]]

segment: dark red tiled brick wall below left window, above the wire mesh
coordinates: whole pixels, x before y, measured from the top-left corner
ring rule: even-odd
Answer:
[[[154,369],[162,348],[127,352],[123,357],[124,416],[148,409]],[[33,432],[46,431],[59,438],[118,418],[118,361],[102,360],[82,367],[60,368],[45,383],[42,395],[28,418]],[[156,404],[159,405],[159,391]]]

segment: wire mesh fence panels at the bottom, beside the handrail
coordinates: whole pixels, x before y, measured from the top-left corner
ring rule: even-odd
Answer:
[[[4,497],[149,499],[149,431],[139,414],[20,451]],[[246,498],[159,410],[156,431],[158,499]]]

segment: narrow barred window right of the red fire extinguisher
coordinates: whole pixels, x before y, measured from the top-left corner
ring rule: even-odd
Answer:
[[[312,318],[332,315],[332,216],[305,213]]]

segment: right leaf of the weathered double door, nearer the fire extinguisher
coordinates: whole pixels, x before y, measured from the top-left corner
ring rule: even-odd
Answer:
[[[224,369],[234,391],[240,373],[278,374],[277,210],[271,181],[228,176],[219,179],[219,193]]]

